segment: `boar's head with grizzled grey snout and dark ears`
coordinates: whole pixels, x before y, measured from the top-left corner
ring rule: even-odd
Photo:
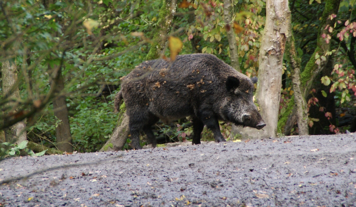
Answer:
[[[223,106],[223,115],[236,125],[262,129],[266,124],[253,103],[252,81],[255,82],[256,79],[227,77],[227,97]]]

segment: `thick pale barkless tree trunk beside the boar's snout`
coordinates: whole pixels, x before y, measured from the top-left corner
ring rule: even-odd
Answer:
[[[266,26],[262,37],[256,100],[267,136],[276,137],[282,87],[283,53],[290,24],[287,0],[266,1]]]

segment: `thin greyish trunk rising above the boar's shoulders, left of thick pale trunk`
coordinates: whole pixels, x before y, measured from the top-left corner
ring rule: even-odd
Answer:
[[[224,20],[225,24],[231,24],[232,23],[232,6],[231,5],[231,0],[224,0]],[[237,53],[237,46],[236,46],[236,37],[235,37],[235,32],[234,29],[232,29],[232,26],[230,26],[230,30],[226,31],[226,36],[227,36],[227,41],[229,42],[229,48],[230,48],[230,60],[231,60],[231,66],[241,72],[240,70],[240,65],[239,65],[239,54]]]

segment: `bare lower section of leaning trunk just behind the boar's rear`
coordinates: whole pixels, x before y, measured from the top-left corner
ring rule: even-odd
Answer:
[[[99,152],[119,151],[124,147],[127,137],[129,136],[129,116],[126,115],[125,103],[120,107],[119,120],[112,132],[109,140],[99,150]]]

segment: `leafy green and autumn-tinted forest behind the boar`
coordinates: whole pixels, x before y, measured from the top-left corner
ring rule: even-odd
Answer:
[[[28,145],[35,152],[47,149],[38,146],[99,151],[117,124],[113,100],[120,78],[152,59],[151,45],[159,41],[164,47],[156,58],[178,52],[211,53],[249,77],[258,76],[266,2],[230,2],[231,20],[226,22],[224,1],[219,0],[0,1],[1,142],[10,145],[6,130],[26,120],[22,131],[37,144],[37,148]],[[167,5],[175,12],[167,35],[160,39],[155,35],[169,16],[163,12]],[[331,11],[330,5],[336,12],[325,13]],[[354,5],[355,0],[289,1],[294,60],[300,64],[301,81],[308,79],[311,65],[320,68],[311,90],[305,92],[309,134],[356,130]],[[325,26],[325,22],[333,24]],[[231,31],[236,54],[230,48]],[[324,50],[318,49],[321,40],[327,45]],[[286,54],[290,47],[287,42]],[[293,60],[286,54],[278,136],[299,132],[296,118],[291,118],[296,110]],[[4,77],[10,69],[17,77],[9,86]],[[221,130],[225,138],[238,138],[230,136],[229,123],[221,123]],[[159,143],[188,141],[191,133],[186,119],[172,125],[159,122],[155,130]],[[145,145],[144,135],[141,140]],[[204,129],[202,140],[213,140],[213,136]],[[124,148],[130,149],[130,137]]]

